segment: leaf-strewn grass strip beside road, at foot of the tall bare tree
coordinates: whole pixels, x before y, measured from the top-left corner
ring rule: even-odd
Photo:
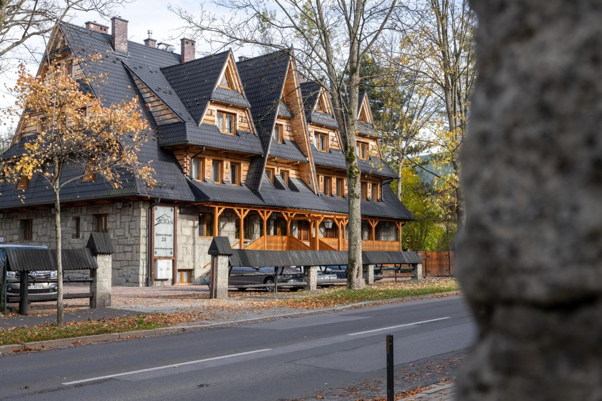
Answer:
[[[362,290],[334,290],[325,294],[308,295],[283,300],[282,302],[286,303],[289,308],[318,309],[370,300],[412,297],[459,290],[460,285],[455,279],[427,279],[424,281],[384,282],[362,288]]]

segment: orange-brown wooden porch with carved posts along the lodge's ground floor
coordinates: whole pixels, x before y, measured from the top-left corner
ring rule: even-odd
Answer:
[[[225,210],[232,210],[238,217],[237,242],[232,244],[233,248],[255,249],[255,250],[347,250],[349,240],[346,238],[346,228],[349,217],[346,215],[312,213],[300,210],[269,210],[260,208],[241,208],[231,205],[211,205],[214,210],[214,235],[219,235],[219,216]],[[261,219],[262,230],[258,238],[250,239],[244,237],[245,217],[256,211]],[[284,219],[282,226],[278,226],[278,233],[268,232],[268,219]],[[291,233],[292,222],[303,222],[305,229],[297,226],[297,235]],[[320,226],[322,225],[322,226]],[[378,229],[394,228],[395,240],[376,240]],[[325,235],[320,236],[320,228]],[[403,222],[387,219],[362,219],[362,250],[402,250]]]

